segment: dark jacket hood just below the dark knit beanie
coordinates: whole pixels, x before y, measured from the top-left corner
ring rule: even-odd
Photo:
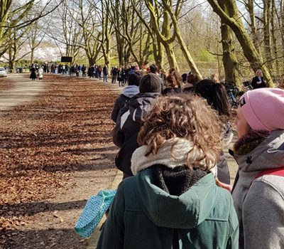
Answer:
[[[142,113],[151,110],[151,102],[159,95],[157,92],[138,93],[129,100],[129,112],[134,122],[141,121]]]

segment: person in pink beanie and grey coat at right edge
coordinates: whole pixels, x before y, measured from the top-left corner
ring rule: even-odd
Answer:
[[[232,196],[239,218],[239,248],[283,248],[284,90],[244,93],[235,124],[239,171]]]

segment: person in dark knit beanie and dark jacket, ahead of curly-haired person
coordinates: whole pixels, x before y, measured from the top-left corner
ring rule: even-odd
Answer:
[[[160,78],[154,73],[144,75],[140,80],[139,93],[127,102],[126,110],[121,108],[112,132],[114,144],[120,147],[116,156],[116,166],[124,172],[124,179],[132,176],[131,156],[138,148],[137,135],[143,115],[151,109],[151,104],[160,95]]]

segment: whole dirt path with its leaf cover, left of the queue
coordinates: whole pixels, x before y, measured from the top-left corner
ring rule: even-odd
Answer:
[[[16,76],[0,112],[0,248],[86,248],[74,226],[116,176],[109,117],[121,89],[58,75],[35,89]]]

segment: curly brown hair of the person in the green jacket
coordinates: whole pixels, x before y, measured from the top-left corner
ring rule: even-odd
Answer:
[[[209,170],[217,164],[223,149],[221,125],[217,113],[206,100],[191,94],[158,97],[138,133],[138,144],[147,146],[147,157],[151,153],[157,154],[166,140],[174,138],[187,139],[192,143],[192,149],[187,152],[190,169]],[[175,143],[171,153],[174,146]],[[200,152],[202,155],[191,164],[189,154]],[[202,160],[205,160],[203,165]]]

